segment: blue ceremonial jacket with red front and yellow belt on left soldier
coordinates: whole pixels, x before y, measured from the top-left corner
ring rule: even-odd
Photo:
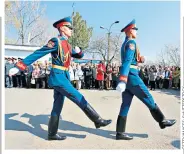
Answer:
[[[60,86],[65,80],[70,80],[68,68],[70,66],[71,57],[82,58],[84,56],[82,51],[76,53],[65,37],[59,36],[50,39],[47,45],[44,45],[41,49],[36,50],[22,61],[16,63],[16,67],[20,70],[25,70],[27,66],[49,53],[51,53],[52,56],[52,66],[57,66],[52,67],[50,71],[50,87]],[[60,69],[61,67],[66,70]]]

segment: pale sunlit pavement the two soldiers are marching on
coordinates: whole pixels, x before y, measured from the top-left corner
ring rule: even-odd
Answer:
[[[179,91],[151,91],[155,101],[168,118],[177,123],[161,130],[146,106],[134,97],[127,119],[127,132],[132,141],[116,141],[116,119],[121,105],[116,91],[81,90],[86,99],[112,124],[95,129],[94,124],[70,100],[66,99],[59,133],[64,141],[47,141],[47,124],[52,108],[53,91],[45,89],[5,90],[6,149],[179,149]]]

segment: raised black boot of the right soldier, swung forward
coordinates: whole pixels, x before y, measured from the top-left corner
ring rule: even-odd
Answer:
[[[159,123],[159,126],[161,129],[164,129],[165,127],[170,127],[176,123],[175,119],[165,119],[165,116],[159,109],[159,107],[156,105],[156,108],[153,110],[150,110],[153,118]]]

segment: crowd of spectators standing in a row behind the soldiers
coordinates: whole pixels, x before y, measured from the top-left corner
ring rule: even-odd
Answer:
[[[21,58],[5,59],[5,87],[12,88],[43,88],[48,89],[48,77],[52,68],[49,61],[35,62],[25,71],[9,76],[9,70]],[[70,81],[76,89],[115,89],[118,83],[120,67],[115,63],[105,65],[92,63],[74,63],[69,67]],[[150,90],[180,89],[180,68],[175,66],[140,66],[139,75]]]

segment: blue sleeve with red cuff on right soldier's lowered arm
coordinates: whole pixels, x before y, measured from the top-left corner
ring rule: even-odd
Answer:
[[[128,80],[130,65],[135,54],[135,45],[136,45],[135,42],[131,40],[125,46],[125,55],[123,57],[122,65],[120,68],[120,77],[119,77],[119,80],[124,83],[127,83],[127,80]],[[122,52],[124,52],[124,50],[122,50]]]

